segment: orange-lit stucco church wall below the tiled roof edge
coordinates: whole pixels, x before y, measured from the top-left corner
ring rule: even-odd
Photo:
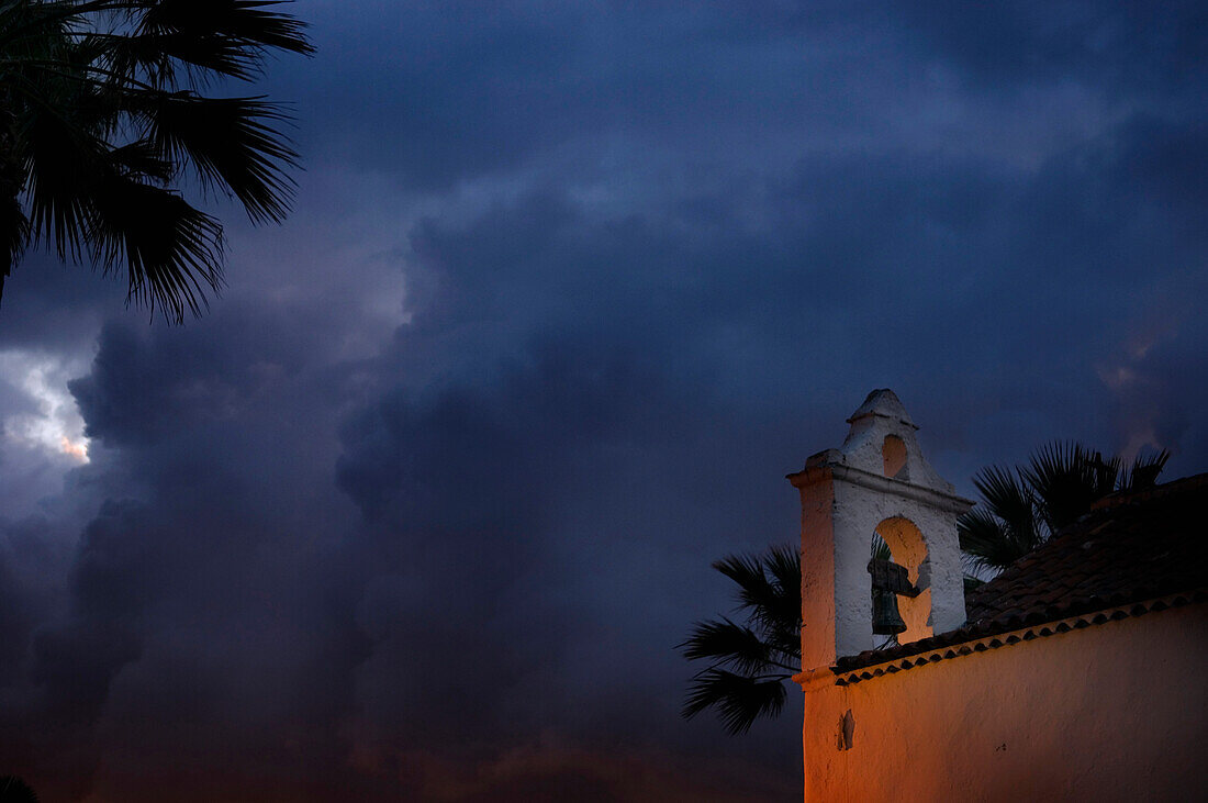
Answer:
[[[814,686],[805,799],[1208,799],[1206,624],[1197,604]]]

